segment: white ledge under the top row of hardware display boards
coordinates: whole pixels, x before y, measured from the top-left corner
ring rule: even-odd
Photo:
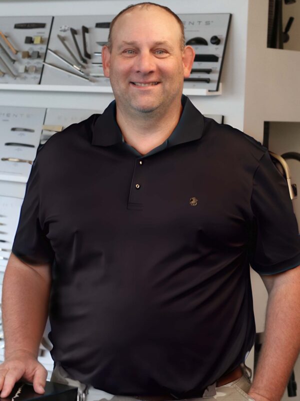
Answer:
[[[0,84],[0,91],[112,93],[110,86],[24,84]],[[191,96],[217,96],[222,93],[222,84],[219,84],[219,90],[217,92],[209,92],[207,89],[183,88],[183,93],[184,95]]]

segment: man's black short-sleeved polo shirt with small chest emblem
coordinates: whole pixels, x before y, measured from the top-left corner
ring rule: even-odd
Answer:
[[[201,396],[254,342],[249,262],[300,264],[284,178],[250,136],[182,97],[142,156],[115,103],[38,151],[12,252],[53,263],[52,356],[112,394]]]

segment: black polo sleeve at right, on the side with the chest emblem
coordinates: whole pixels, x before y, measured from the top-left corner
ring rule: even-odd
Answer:
[[[275,274],[300,265],[300,236],[287,182],[267,151],[253,177],[251,209],[251,267],[259,274]]]

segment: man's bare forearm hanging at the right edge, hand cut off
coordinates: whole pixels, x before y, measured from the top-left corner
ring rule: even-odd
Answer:
[[[261,279],[268,292],[264,341],[248,395],[279,401],[300,352],[300,266]]]

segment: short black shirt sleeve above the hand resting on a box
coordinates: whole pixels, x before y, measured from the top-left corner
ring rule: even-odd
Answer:
[[[36,156],[26,184],[25,196],[12,244],[12,253],[23,262],[32,265],[52,263],[53,261],[51,245],[42,232],[39,221],[38,170],[38,156]]]

